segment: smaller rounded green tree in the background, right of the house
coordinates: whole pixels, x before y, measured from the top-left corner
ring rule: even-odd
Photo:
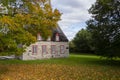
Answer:
[[[86,29],[81,29],[73,39],[77,52],[91,52],[91,34]]]

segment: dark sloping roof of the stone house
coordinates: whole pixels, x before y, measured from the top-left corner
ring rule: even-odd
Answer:
[[[55,41],[55,36],[56,36],[57,33],[59,34],[60,41],[68,42],[68,39],[65,36],[65,34],[63,33],[63,31],[61,30],[60,26],[53,29],[52,41]]]

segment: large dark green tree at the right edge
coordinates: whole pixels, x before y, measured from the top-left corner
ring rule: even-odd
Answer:
[[[120,1],[97,0],[89,13],[92,19],[87,21],[87,29],[96,53],[108,58],[120,57]]]

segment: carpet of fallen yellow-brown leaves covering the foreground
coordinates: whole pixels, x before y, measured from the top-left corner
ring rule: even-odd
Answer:
[[[0,80],[119,80],[120,70],[101,66],[60,64],[1,65]]]

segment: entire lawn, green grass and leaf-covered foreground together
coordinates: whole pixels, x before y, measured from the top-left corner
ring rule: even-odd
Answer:
[[[0,60],[0,80],[120,80],[120,60],[71,54],[46,60]]]

